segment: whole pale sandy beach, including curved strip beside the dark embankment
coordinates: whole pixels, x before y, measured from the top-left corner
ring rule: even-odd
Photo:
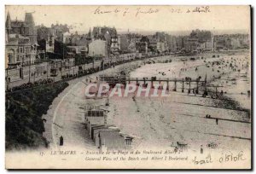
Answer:
[[[202,56],[203,58],[201,58]],[[212,80],[211,83],[213,84],[217,83],[216,80],[213,80],[213,76],[218,77],[221,73],[224,73],[223,77],[230,76],[230,72],[218,73],[212,71],[212,68],[217,69],[216,66],[209,68],[208,65],[212,65],[213,61],[229,61],[231,57],[239,59],[239,57],[244,58],[245,56],[220,55],[218,58],[212,58],[212,55],[200,55],[200,59],[196,61],[180,61],[183,57],[172,57],[170,63],[156,62],[154,64],[135,61],[131,62],[129,66],[128,64],[120,65],[104,70],[104,72],[95,73],[90,76],[90,79],[96,80],[96,77],[103,73],[105,75],[119,73],[126,66],[126,68],[130,68],[127,70],[129,73],[131,72],[130,77],[150,78],[157,76],[161,78],[164,72],[166,74],[165,78],[185,78],[187,76],[205,78],[207,74],[207,79]],[[170,56],[162,59],[151,58],[151,60],[166,59],[170,59]],[[197,71],[195,71],[196,67]],[[180,72],[181,68],[186,70],[178,74],[173,73]],[[51,142],[51,147],[58,147],[59,136],[65,135],[64,141],[67,147],[75,145],[84,149],[95,148],[94,142],[90,140],[84,129],[83,109],[86,105],[104,106],[107,99],[85,99],[86,78],[88,77],[70,81],[67,89],[55,98],[47,115],[44,116],[49,120],[45,124],[45,136]],[[201,95],[188,95],[186,92],[182,93],[180,88],[180,86],[177,86],[177,92],[170,90],[167,97],[110,98],[108,125],[115,125],[122,133],[133,136],[133,148],[171,148],[177,142],[183,142],[188,145],[190,150],[196,152],[200,150],[201,145],[205,147],[208,143],[214,142],[218,145],[218,150],[230,148],[239,150],[238,148],[241,147],[250,150],[251,124],[243,123],[243,121],[250,121],[246,112],[222,108],[219,106],[219,103],[222,103],[221,100],[212,99],[211,97],[204,98]],[[241,91],[235,89],[236,96],[240,95]],[[230,89],[221,90],[227,91],[227,96],[235,96],[231,94],[232,90]],[[242,92],[246,94],[247,91],[243,88]],[[246,101],[250,100],[246,98]],[[250,103],[245,103],[244,106],[250,106]],[[206,119],[206,114],[210,114],[212,118],[218,118],[218,125],[215,119]],[[236,122],[230,120],[236,120]]]

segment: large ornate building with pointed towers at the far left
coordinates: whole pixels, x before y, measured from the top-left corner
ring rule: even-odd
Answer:
[[[5,30],[5,67],[15,68],[34,64],[38,42],[32,13],[26,13],[24,21],[11,20],[8,13]]]

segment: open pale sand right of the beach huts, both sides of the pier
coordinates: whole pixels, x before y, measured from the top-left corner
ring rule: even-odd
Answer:
[[[207,74],[209,84],[218,84],[217,80],[213,80],[213,76],[219,77],[222,73],[230,74],[231,70],[221,67],[222,71],[218,72],[217,66],[209,68],[206,63],[228,61],[231,57],[235,59],[236,56],[239,58],[245,55],[223,55],[219,58],[212,58],[209,55],[208,58],[204,56],[203,59],[185,61],[185,63],[177,59],[172,63],[146,64],[131,72],[131,78],[151,78],[152,76],[157,78],[198,78],[201,76],[204,78]],[[196,67],[197,71],[195,71]],[[181,68],[186,70],[177,73]],[[212,68],[215,71],[212,71]],[[172,88],[173,86],[174,84],[171,84]],[[229,88],[218,90],[227,91],[227,94],[231,95],[231,90],[227,89]],[[247,88],[236,89],[236,93],[237,90],[246,92]],[[220,150],[239,150],[241,147],[250,150],[251,124],[232,121],[250,121],[247,113],[222,108],[224,107],[222,102],[211,97],[203,98],[201,95],[190,94],[188,96],[186,92],[181,92],[181,84],[177,84],[177,92],[169,92],[166,98],[137,97],[136,100],[131,98],[110,100],[112,112],[108,114],[108,119],[124,133],[135,136],[134,144],[137,147],[166,148],[171,147],[175,142],[184,142],[188,143],[190,149],[199,150],[201,145],[205,147],[207,143],[214,142],[218,144]],[[247,103],[247,106],[249,105]],[[216,119],[206,119],[207,114],[210,114],[212,118],[218,118],[218,125]]]

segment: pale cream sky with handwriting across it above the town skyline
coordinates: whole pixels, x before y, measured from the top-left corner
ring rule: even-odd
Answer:
[[[36,25],[67,24],[73,32],[115,26],[118,32],[183,32],[194,29],[250,32],[249,6],[6,6],[11,20],[32,12]]]

